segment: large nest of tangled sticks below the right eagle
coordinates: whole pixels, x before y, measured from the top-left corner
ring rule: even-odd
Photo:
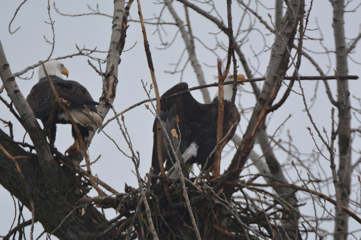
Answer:
[[[181,183],[166,182],[166,191],[159,183],[153,189],[144,186],[150,213],[140,190],[128,185],[125,194],[97,206],[117,209],[119,215],[108,230],[113,236],[117,232],[119,239],[153,239],[149,216],[159,239],[197,239],[193,221],[200,238],[207,240],[275,239],[295,232],[292,206],[278,196],[242,181],[226,182],[219,190],[214,188],[216,183],[219,180],[209,178],[187,180],[189,205]]]

